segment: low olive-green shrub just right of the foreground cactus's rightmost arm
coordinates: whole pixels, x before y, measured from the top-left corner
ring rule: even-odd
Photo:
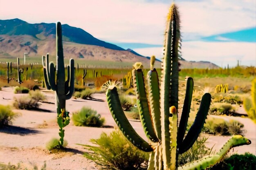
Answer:
[[[239,123],[238,121],[225,121],[221,118],[209,117],[206,120],[206,124],[204,124],[202,132],[213,135],[238,135],[243,134],[243,127],[244,125]]]

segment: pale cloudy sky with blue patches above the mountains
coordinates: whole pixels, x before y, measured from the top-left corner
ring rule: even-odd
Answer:
[[[0,0],[0,20],[53,23],[162,58],[168,8],[173,0]],[[175,0],[182,57],[218,66],[256,66],[256,0]]]

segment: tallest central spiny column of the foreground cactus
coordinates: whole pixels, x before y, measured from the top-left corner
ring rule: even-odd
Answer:
[[[162,63],[162,77],[160,88],[161,103],[161,131],[162,131],[162,152],[164,170],[169,169],[171,162],[171,146],[169,132],[169,107],[178,108],[178,64],[177,64],[177,42],[179,29],[177,9],[171,5],[167,16],[166,33],[164,40],[164,59]],[[175,58],[176,57],[176,58]],[[176,63],[175,63],[176,62]],[[177,70],[175,70],[177,69]],[[171,83],[171,84],[170,84]],[[171,91],[170,91],[171,88]],[[173,158],[175,159],[175,158]]]

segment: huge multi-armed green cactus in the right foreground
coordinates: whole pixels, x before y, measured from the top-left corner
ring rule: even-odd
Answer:
[[[184,105],[178,128],[176,108],[178,108],[179,42],[179,15],[176,6],[172,4],[165,34],[161,83],[159,83],[158,74],[154,68],[154,57],[151,58],[150,71],[147,74],[148,95],[145,90],[142,64],[135,63],[135,69],[132,71],[141,124],[150,143],[137,134],[125,117],[115,84],[108,84],[106,92],[110,112],[119,129],[137,148],[145,152],[151,152],[148,170],[201,170],[202,168],[209,168],[219,161],[216,157],[209,157],[206,160],[192,162],[193,166],[177,167],[178,154],[186,152],[195,143],[204,125],[211,103],[211,95],[209,93],[204,94],[195,121],[184,138],[192,100],[193,79],[189,77],[187,80]],[[243,144],[248,144],[247,139],[241,140],[240,145]],[[227,149],[232,146],[229,145]],[[218,158],[221,158],[225,152],[218,154],[220,155]]]

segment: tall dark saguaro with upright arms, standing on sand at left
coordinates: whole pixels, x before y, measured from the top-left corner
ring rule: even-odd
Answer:
[[[72,97],[74,92],[74,60],[70,59],[70,65],[67,66],[67,81],[65,81],[64,55],[62,45],[62,30],[61,23],[56,24],[56,68],[54,63],[49,63],[49,54],[42,57],[43,73],[45,79],[45,86],[47,89],[55,91],[57,119],[60,127],[60,141],[59,146],[63,146],[64,127],[70,123],[69,113],[66,111],[66,100]],[[56,82],[55,82],[56,71]]]

